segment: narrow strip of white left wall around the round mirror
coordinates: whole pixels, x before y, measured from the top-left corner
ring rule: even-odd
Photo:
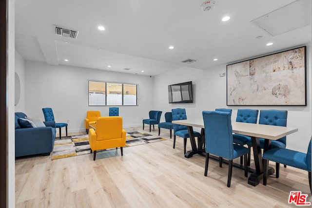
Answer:
[[[15,51],[15,73],[20,77],[20,102],[15,106],[15,112],[25,111],[25,61]]]

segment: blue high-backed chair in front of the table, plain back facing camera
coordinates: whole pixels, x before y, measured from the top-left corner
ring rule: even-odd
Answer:
[[[203,111],[206,139],[206,163],[207,176],[209,154],[227,158],[229,160],[228,184],[231,186],[233,159],[244,156],[245,177],[247,177],[247,153],[248,149],[233,143],[231,113],[219,111]]]

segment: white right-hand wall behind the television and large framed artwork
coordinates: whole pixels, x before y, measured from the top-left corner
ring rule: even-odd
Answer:
[[[307,44],[307,106],[229,106],[226,103],[226,76],[219,77],[226,72],[226,65],[220,65],[208,70],[198,70],[190,67],[182,67],[172,72],[154,77],[155,108],[163,112],[173,108],[185,108],[188,118],[202,117],[202,111],[215,108],[233,109],[232,121],[235,121],[237,109],[278,109],[287,110],[287,126],[298,128],[287,136],[287,148],[297,151],[307,151],[307,146],[312,135],[312,59],[311,43]],[[194,103],[169,104],[168,85],[180,82],[193,81]],[[162,121],[164,118],[162,117]],[[197,129],[198,130],[198,129]]]

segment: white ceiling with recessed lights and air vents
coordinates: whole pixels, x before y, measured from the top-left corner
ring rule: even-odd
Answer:
[[[146,76],[209,69],[310,43],[311,0],[300,0],[309,8],[302,8],[307,26],[272,36],[251,22],[293,1],[215,0],[204,12],[204,0],[15,0],[15,46],[26,60],[52,65]],[[78,38],[56,35],[53,25],[77,30]],[[196,62],[181,62],[188,58]]]

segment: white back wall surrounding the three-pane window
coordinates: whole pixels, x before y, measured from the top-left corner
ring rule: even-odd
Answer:
[[[138,106],[118,106],[123,126],[141,126],[153,110],[153,78],[70,66],[52,66],[25,61],[25,111],[44,120],[42,108],[51,107],[56,122],[69,123],[69,132],[85,131],[89,110],[107,116],[109,106],[88,106],[88,80],[138,84]],[[63,131],[63,130],[62,130]]]

